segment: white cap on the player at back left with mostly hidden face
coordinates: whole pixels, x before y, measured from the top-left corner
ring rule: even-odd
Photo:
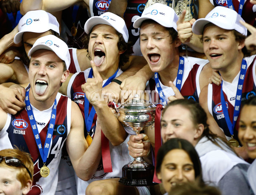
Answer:
[[[24,32],[43,33],[52,29],[60,34],[59,23],[55,16],[44,11],[28,11],[19,21],[19,32],[14,37],[14,43],[17,44],[22,40]]]

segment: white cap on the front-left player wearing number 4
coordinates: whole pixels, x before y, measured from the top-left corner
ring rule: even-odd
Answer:
[[[51,50],[66,63],[67,67],[70,65],[70,53],[68,51],[68,46],[58,37],[52,34],[40,37],[35,41],[33,47],[29,50],[28,56],[31,57],[31,55],[38,49]]]

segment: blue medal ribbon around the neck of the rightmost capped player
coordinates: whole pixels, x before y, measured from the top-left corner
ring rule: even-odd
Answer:
[[[241,71],[240,71],[240,75],[239,75],[237,90],[236,90],[236,100],[235,100],[235,107],[234,107],[234,113],[233,113],[233,123],[230,121],[230,117],[229,117],[229,114],[228,114],[228,111],[227,111],[227,106],[226,106],[226,102],[225,102],[224,95],[223,95],[223,90],[222,90],[223,81],[221,82],[221,105],[222,105],[224,118],[226,120],[227,127],[230,131],[231,136],[233,136],[234,127],[236,125],[236,121],[238,119],[239,112],[240,112],[241,99],[242,99],[242,89],[243,89],[246,69],[247,69],[247,63],[243,59],[242,64],[241,64]]]

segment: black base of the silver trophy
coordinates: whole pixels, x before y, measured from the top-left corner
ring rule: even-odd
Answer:
[[[129,168],[127,164],[122,167],[122,178],[119,182],[126,186],[150,186],[154,185],[154,166],[149,165],[146,168]]]

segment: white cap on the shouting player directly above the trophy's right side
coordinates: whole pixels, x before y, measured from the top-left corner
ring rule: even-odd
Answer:
[[[175,13],[174,9],[169,6],[161,3],[155,3],[144,9],[141,17],[134,21],[134,28],[140,28],[141,23],[148,19],[154,20],[164,27],[174,28],[175,31],[177,31],[176,23],[179,17]]]

